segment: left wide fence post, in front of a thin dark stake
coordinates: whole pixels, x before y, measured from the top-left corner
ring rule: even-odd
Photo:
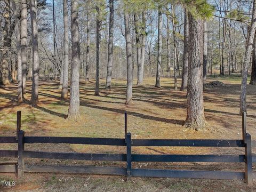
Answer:
[[[24,164],[24,131],[19,131],[18,134],[18,178],[23,177],[25,164]]]

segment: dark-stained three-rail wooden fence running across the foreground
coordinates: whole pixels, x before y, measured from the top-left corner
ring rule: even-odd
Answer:
[[[252,163],[256,155],[252,155],[252,146],[256,141],[246,133],[246,113],[242,115],[242,140],[223,139],[132,139],[127,133],[127,114],[125,113],[125,137],[117,138],[82,138],[82,137],[27,137],[21,130],[21,111],[17,112],[17,137],[0,137],[0,143],[18,143],[18,150],[0,150],[0,157],[18,157],[18,162],[12,164],[0,163],[0,172],[16,173],[18,178],[25,172],[39,173],[86,173],[126,175],[127,177],[167,177],[167,178],[197,178],[197,179],[244,179],[249,186],[253,185],[256,173]],[[125,146],[126,154],[89,154],[60,153],[25,150],[25,143],[69,143],[84,145]],[[135,146],[169,146],[169,147],[242,147],[243,155],[144,155],[133,154]],[[126,162],[126,167],[104,166],[74,166],[74,165],[31,165],[25,164],[25,158],[46,159],[76,159],[87,161],[117,161]],[[244,163],[243,172],[237,171],[193,171],[193,170],[162,170],[134,169],[132,162],[225,162]]]

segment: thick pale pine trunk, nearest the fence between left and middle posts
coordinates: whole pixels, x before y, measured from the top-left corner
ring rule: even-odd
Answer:
[[[72,70],[70,100],[68,108],[68,119],[78,121],[80,119],[80,100],[79,100],[79,65],[80,65],[80,47],[78,30],[78,1],[71,1],[71,43],[72,43]]]

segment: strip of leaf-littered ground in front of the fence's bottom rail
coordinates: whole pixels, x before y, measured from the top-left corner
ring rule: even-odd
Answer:
[[[11,175],[5,175],[10,179]],[[0,177],[2,179],[2,177]],[[15,179],[15,178],[13,178]],[[14,187],[2,188],[2,191],[255,191],[243,181],[169,179],[169,178],[131,178],[108,177],[101,175],[70,174],[26,174],[25,181],[19,181]],[[0,188],[1,191],[1,188]]]

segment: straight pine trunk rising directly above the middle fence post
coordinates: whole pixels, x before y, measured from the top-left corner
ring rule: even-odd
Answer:
[[[125,26],[125,43],[126,43],[126,65],[127,65],[127,87],[126,87],[126,101],[125,104],[132,103],[132,81],[133,81],[133,68],[132,68],[132,39],[131,39],[131,26],[130,15],[124,10],[124,26]]]

